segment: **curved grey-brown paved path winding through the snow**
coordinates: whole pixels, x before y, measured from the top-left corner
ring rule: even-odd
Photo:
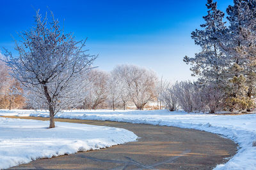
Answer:
[[[97,151],[39,159],[11,169],[212,169],[236,154],[237,145],[233,141],[193,129],[61,118],[56,121],[120,127],[140,139]]]

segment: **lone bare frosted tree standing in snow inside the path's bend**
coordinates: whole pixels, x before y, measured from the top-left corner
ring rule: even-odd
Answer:
[[[96,57],[83,50],[85,41],[76,41],[65,34],[59,22],[36,11],[35,26],[19,34],[17,57],[6,50],[6,64],[12,76],[29,92],[26,97],[38,108],[49,110],[50,125],[55,127],[54,115],[66,106],[74,106],[83,97],[81,76],[90,70]]]

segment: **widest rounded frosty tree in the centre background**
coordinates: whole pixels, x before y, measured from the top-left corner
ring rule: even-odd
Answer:
[[[138,110],[143,110],[149,101],[156,99],[157,76],[153,71],[134,65],[121,65],[113,70],[120,80],[121,99],[125,103],[129,99]]]

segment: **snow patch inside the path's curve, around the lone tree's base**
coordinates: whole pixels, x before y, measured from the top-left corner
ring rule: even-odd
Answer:
[[[65,122],[56,122],[53,129],[47,127],[49,122],[45,121],[0,118],[0,169],[40,158],[99,150],[138,138],[131,131],[115,127]]]

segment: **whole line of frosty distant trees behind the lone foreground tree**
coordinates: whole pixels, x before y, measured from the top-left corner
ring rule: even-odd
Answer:
[[[1,109],[33,108],[42,109],[37,97],[31,94],[31,89],[22,89],[19,81],[10,76],[8,66],[1,64]],[[144,67],[124,64],[116,66],[109,73],[93,68],[81,76],[83,87],[81,101],[77,104],[67,104],[62,109],[126,109],[127,103],[143,110],[148,102],[156,102],[159,81],[156,73]],[[77,96],[77,97],[79,97]],[[38,100],[41,98],[39,97]],[[70,100],[70,99],[69,99]]]

